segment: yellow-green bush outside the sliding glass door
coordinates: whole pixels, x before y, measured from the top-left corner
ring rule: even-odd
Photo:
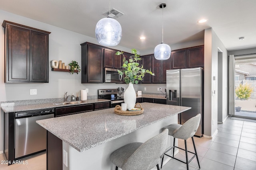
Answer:
[[[248,100],[253,92],[253,88],[249,84],[240,84],[238,88],[236,88],[235,93],[238,99],[240,100]]]

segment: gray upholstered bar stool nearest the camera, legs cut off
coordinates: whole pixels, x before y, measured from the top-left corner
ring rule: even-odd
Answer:
[[[160,156],[164,154],[168,138],[168,129],[146,141],[127,144],[110,155],[116,170],[150,170],[159,169]]]

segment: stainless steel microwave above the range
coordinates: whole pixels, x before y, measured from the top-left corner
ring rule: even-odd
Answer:
[[[115,68],[105,68],[105,83],[122,83],[123,78]]]

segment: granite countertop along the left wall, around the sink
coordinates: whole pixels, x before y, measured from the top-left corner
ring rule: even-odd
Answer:
[[[79,103],[79,104],[66,104],[66,105],[54,105],[54,103],[42,103],[42,104],[27,104],[27,105],[18,105],[18,106],[3,106],[1,109],[5,113],[16,112],[16,111],[31,111],[31,110],[40,110],[40,109],[50,109],[55,107],[63,107],[63,106],[76,106],[82,104],[93,104],[100,102],[110,102],[110,100],[105,99],[90,99],[87,102]]]

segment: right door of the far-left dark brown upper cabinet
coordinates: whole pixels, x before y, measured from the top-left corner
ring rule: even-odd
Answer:
[[[30,31],[30,81],[48,82],[48,34]]]

